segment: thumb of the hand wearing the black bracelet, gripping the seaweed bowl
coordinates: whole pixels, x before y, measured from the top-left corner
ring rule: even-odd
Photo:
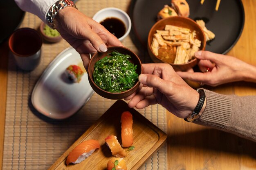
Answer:
[[[162,78],[152,74],[141,74],[139,75],[139,82],[158,89],[163,94],[169,94],[170,90],[166,87],[170,87],[171,81],[165,81]]]

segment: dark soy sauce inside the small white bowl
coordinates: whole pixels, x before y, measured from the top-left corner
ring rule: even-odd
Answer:
[[[117,38],[122,37],[126,32],[126,26],[124,22],[116,17],[108,17],[100,22],[110,33],[115,35]]]

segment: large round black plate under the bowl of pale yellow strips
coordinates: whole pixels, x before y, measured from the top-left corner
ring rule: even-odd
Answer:
[[[187,0],[190,7],[189,17],[202,19],[206,27],[215,35],[215,39],[207,42],[205,50],[225,54],[238,41],[245,22],[245,12],[240,0],[222,0],[218,11],[215,11],[216,0]],[[147,47],[150,28],[157,20],[157,13],[171,0],[132,0],[129,15],[132,20],[132,41],[136,46]],[[138,44],[137,41],[141,44]]]

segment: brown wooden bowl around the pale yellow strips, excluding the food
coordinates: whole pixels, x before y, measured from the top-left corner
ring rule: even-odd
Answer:
[[[196,59],[196,58],[192,59],[188,63],[174,64],[174,63],[167,62],[165,60],[160,59],[158,56],[156,56],[153,53],[152,48],[151,48],[153,36],[156,33],[156,30],[164,30],[164,27],[167,24],[168,25],[174,25],[174,26],[180,26],[180,27],[183,27],[183,28],[189,28],[191,31],[196,31],[196,38],[199,39],[200,41],[202,41],[201,46],[200,46],[200,50],[205,49],[206,39],[205,39],[205,36],[204,36],[204,32],[203,32],[202,28],[195,21],[191,20],[188,17],[179,17],[179,16],[168,17],[168,18],[164,18],[164,19],[159,20],[158,22],[156,22],[149,31],[149,34],[148,34],[148,53],[149,53],[151,59],[155,63],[168,63],[173,67],[173,69],[175,71],[178,71],[178,70],[179,71],[186,71],[189,68],[193,68],[198,63],[198,59]],[[172,60],[174,60],[174,59],[172,59]]]

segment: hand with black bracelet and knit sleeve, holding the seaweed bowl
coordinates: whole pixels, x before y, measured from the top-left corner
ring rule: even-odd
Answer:
[[[199,94],[175,73],[169,64],[142,64],[141,86],[137,93],[125,98],[129,107],[143,109],[160,104],[179,118],[186,118],[195,109]]]

